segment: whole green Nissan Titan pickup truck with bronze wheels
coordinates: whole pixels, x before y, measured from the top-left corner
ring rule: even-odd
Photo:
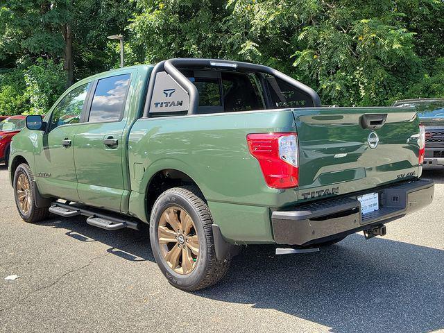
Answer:
[[[318,248],[429,205],[413,108],[327,108],[262,65],[170,59],[85,78],[10,149],[26,222],[149,225],[175,287],[218,282],[244,244]]]

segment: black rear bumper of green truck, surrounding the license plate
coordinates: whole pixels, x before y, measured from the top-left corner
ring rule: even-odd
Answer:
[[[366,230],[416,212],[432,203],[434,182],[416,180],[367,191],[379,194],[379,210],[361,214],[357,196],[341,196],[272,213],[273,235],[278,244],[309,245]]]

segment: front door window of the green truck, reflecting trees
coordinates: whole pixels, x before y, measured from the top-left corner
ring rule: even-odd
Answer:
[[[51,116],[50,130],[67,123],[78,123],[80,121],[80,114],[82,114],[89,84],[80,85],[80,87],[71,90],[58,103]]]

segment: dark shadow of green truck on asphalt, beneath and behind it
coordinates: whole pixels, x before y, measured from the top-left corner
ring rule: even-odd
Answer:
[[[154,261],[146,234],[104,232],[83,218],[44,223],[100,241],[133,262]],[[444,328],[444,250],[354,234],[320,253],[274,255],[248,246],[227,277],[196,295],[253,304],[332,327],[330,332],[430,332]]]

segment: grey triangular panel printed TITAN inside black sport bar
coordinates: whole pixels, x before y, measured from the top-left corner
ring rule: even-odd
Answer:
[[[185,89],[180,87],[171,76],[160,71],[155,76],[153,98],[150,112],[187,111],[189,97]]]

